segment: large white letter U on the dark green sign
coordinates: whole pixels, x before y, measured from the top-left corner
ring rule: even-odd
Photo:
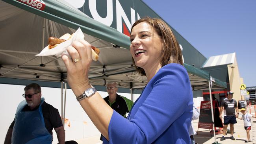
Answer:
[[[96,9],[96,0],[89,0],[89,9],[91,11],[91,15],[93,19],[106,24],[107,26],[111,26],[113,22],[113,0],[107,0],[107,16],[105,18],[100,17]]]

